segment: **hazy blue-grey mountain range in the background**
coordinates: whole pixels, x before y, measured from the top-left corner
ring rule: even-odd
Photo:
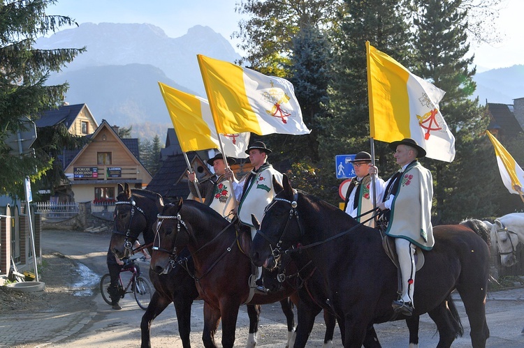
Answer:
[[[48,84],[68,82],[65,100],[85,103],[97,121],[133,126],[133,137],[161,142],[172,127],[158,81],[205,97],[196,54],[236,61],[240,54],[210,27],[196,26],[180,38],[169,38],[152,24],[80,24],[40,38],[41,49],[87,47]],[[524,66],[477,73],[479,103],[511,104],[524,97]],[[445,98],[445,97],[444,97]]]

